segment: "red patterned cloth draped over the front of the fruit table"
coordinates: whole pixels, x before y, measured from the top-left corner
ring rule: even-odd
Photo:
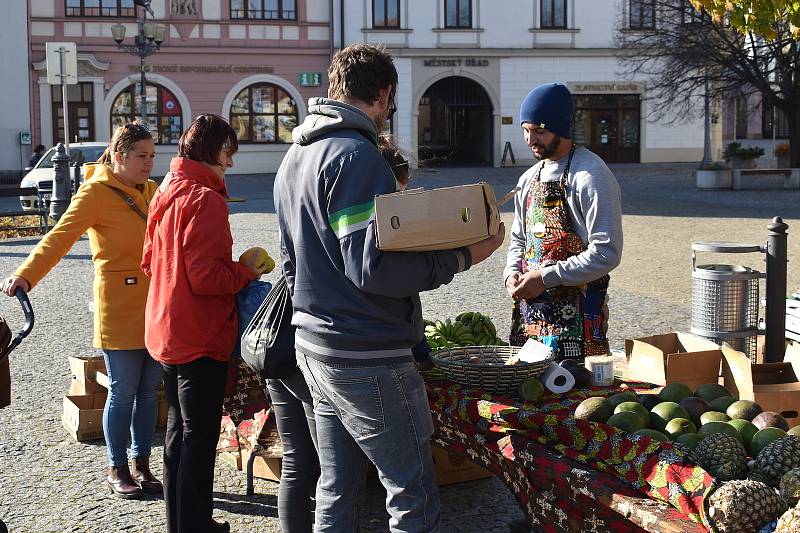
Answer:
[[[577,420],[593,388],[538,404],[492,396],[427,373],[433,443],[487,468],[544,532],[703,532],[713,478],[679,448]]]

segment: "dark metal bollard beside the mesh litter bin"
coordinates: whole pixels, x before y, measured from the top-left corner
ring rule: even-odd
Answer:
[[[767,308],[765,311],[764,362],[783,361],[786,338],[786,264],[789,226],[781,217],[767,226]]]

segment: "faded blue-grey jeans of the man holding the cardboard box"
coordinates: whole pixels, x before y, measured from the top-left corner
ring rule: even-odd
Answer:
[[[314,401],[320,459],[314,531],[356,531],[367,460],[386,489],[392,533],[438,532],[439,488],[425,384],[408,362],[328,364],[297,353]]]

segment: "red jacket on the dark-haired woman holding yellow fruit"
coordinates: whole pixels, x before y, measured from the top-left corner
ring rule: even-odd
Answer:
[[[234,295],[256,276],[233,261],[225,182],[208,166],[176,157],[147,220],[142,270],[150,276],[145,344],[158,361],[230,358]]]

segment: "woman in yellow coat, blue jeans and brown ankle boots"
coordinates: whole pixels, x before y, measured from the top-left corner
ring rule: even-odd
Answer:
[[[94,263],[94,346],[103,350],[109,394],[103,411],[111,492],[138,498],[162,492],[149,468],[158,409],[161,365],[144,344],[149,278],[141,271],[147,209],[157,185],[150,180],[155,146],[138,123],[119,127],[58,224],[3,282],[9,296],[30,291],[84,232]],[[127,447],[131,441],[133,468]]]

